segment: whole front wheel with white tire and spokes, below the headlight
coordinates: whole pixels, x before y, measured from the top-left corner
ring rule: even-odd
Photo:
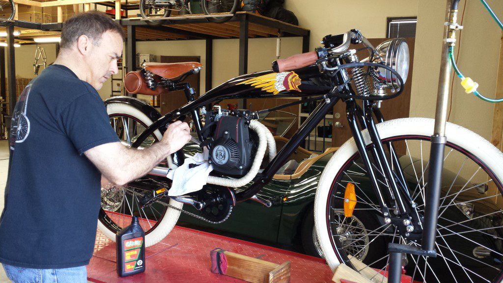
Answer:
[[[433,128],[434,120],[426,118],[377,124],[386,155],[396,156],[400,161],[408,193],[417,204],[420,216],[428,184]],[[369,134],[367,130],[362,134],[370,154]],[[402,261],[406,275],[418,282],[500,282],[503,277],[503,154],[479,135],[458,125],[448,123],[446,135],[437,257],[407,255]],[[376,176],[383,176],[379,166],[373,164],[373,167]],[[397,227],[384,221],[367,170],[354,139],[348,140],[321,175],[314,206],[315,228],[332,269],[345,263],[381,281],[379,273],[387,272],[388,266],[387,244],[421,246],[421,239],[403,236]],[[375,227],[359,229],[360,222],[344,217],[348,183],[355,185],[355,215],[358,218],[372,215],[376,219]],[[386,184],[387,180],[381,177],[381,190],[386,189]],[[388,205],[393,214],[392,204]],[[385,248],[376,248],[373,245],[376,242],[383,242]]]

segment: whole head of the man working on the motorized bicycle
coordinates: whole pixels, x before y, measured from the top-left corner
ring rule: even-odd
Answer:
[[[60,53],[72,63],[82,80],[99,90],[116,74],[122,54],[122,27],[101,12],[77,14],[66,20],[61,30]]]

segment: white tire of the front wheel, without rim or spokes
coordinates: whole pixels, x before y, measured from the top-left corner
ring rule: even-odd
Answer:
[[[404,135],[430,137],[433,134],[434,122],[433,119],[428,118],[402,118],[379,123],[377,129],[381,139]],[[364,130],[362,134],[365,144],[369,145],[370,137],[367,130]],[[499,150],[478,134],[452,123],[447,123],[446,136],[449,143],[475,154],[482,163],[490,168],[501,183],[501,180],[503,180],[503,154]],[[328,194],[334,178],[336,178],[346,161],[357,152],[355,140],[351,138],[329,160],[321,174],[316,191],[314,202],[315,229],[325,259],[332,270],[340,264],[340,261],[336,252],[332,249],[329,239],[330,233],[326,225]]]

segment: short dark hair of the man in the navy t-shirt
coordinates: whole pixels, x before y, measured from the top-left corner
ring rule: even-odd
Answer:
[[[90,11],[79,13],[63,23],[61,30],[61,49],[71,48],[81,35],[87,35],[94,45],[100,45],[102,35],[114,31],[125,39],[124,30],[110,16],[103,12]]]

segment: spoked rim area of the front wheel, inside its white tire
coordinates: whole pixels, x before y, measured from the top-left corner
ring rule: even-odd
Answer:
[[[386,142],[389,143],[385,145],[396,147],[396,152],[386,150],[386,154],[398,156],[409,193],[417,203],[417,212],[422,215],[425,187],[428,184],[429,137],[392,137]],[[446,147],[444,163],[436,240],[438,256],[425,258],[408,255],[404,258],[406,275],[418,282],[499,282],[503,259],[503,212],[499,208],[503,203],[501,184],[497,180],[493,181],[494,174],[472,153],[453,144],[448,143]],[[386,247],[390,242],[421,245],[420,241],[403,237],[395,226],[384,222],[362,164],[358,154],[355,155],[334,180],[327,203],[327,225],[332,248],[339,259],[358,271],[364,268],[366,271],[374,270],[373,276],[379,277],[379,272],[387,271],[387,248],[377,255],[372,243],[385,242]],[[387,180],[382,170],[375,164],[373,167],[376,175],[380,176],[381,189],[386,188]],[[357,193],[355,211],[360,215],[373,215],[378,222],[375,229],[367,227],[367,232],[362,233],[365,235],[359,235],[368,237],[368,241],[357,250],[348,250],[348,242],[341,238],[340,233],[344,228],[343,221],[349,221],[341,218],[342,200],[349,182],[355,185]],[[359,240],[350,243],[358,243]],[[352,258],[364,250],[366,257]],[[372,258],[369,258],[370,255],[373,255]]]

